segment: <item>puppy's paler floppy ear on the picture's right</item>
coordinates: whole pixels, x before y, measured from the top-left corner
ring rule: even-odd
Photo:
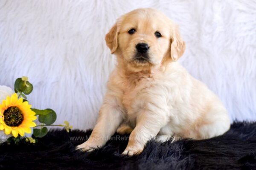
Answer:
[[[180,37],[178,26],[174,26],[172,30],[173,36],[171,39],[171,57],[173,61],[177,61],[186,49],[186,44]]]

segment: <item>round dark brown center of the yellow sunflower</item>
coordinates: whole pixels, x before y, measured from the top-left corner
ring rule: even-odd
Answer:
[[[6,125],[8,126],[19,126],[23,121],[23,113],[16,106],[12,106],[7,108],[3,112],[4,119]]]

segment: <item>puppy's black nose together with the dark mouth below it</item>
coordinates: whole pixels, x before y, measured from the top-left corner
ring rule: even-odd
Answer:
[[[149,46],[146,43],[139,43],[136,45],[136,49],[137,49],[137,54],[135,54],[134,59],[144,63],[144,62],[149,62],[150,59],[148,57],[148,49]]]

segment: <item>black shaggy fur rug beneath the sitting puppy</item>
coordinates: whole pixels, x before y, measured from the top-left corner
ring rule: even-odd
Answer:
[[[115,134],[105,147],[92,153],[75,150],[91,131],[52,130],[37,144],[0,146],[0,169],[256,169],[256,122],[234,123],[223,136],[193,141],[150,141],[138,156],[122,156],[128,136]],[[122,139],[123,138],[123,139]]]

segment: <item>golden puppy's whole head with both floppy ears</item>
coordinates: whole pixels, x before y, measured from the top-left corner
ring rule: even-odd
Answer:
[[[141,8],[120,17],[105,37],[112,54],[116,54],[131,71],[160,66],[177,59],[185,43],[177,26],[163,13]]]

